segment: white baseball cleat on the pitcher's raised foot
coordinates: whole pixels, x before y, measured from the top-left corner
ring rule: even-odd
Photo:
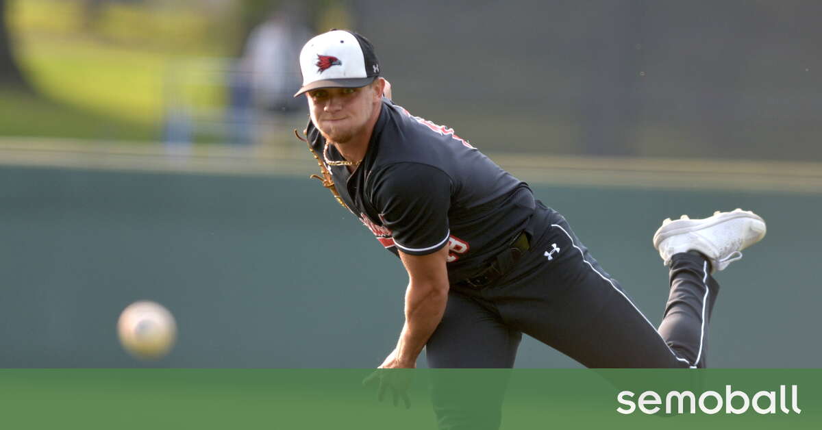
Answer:
[[[679,220],[664,220],[663,226],[653,234],[653,247],[666,266],[671,264],[674,254],[700,252],[708,257],[713,273],[742,258],[741,250],[764,236],[765,222],[760,215],[750,210],[717,210],[702,220],[690,220],[688,215],[682,215]]]

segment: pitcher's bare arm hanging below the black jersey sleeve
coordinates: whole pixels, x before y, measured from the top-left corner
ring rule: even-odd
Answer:
[[[399,252],[409,285],[405,290],[405,324],[399,342],[380,368],[414,368],[423,347],[439,325],[448,301],[448,247],[423,256]]]

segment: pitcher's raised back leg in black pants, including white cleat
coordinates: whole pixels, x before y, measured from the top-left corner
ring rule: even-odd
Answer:
[[[671,227],[660,229],[661,239],[655,243],[662,244],[663,259],[672,269],[661,331],[590,256],[561,216],[535,243],[536,254],[543,248],[560,251],[531,266],[538,270],[537,280],[506,286],[501,294],[510,305],[503,315],[524,333],[587,367],[703,366],[718,293],[711,268],[724,268],[740,257],[742,248],[764,236],[764,222],[758,216],[730,214],[734,215],[669,222],[665,225]]]

